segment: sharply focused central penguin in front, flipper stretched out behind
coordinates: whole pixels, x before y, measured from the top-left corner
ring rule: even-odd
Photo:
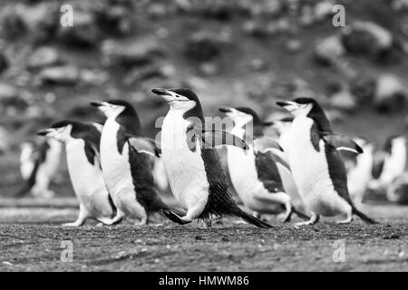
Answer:
[[[165,214],[180,224],[193,219],[236,216],[257,227],[271,227],[238,208],[228,189],[215,146],[235,145],[248,150],[245,141],[225,131],[206,130],[199,98],[189,89],[153,89],[170,105],[161,128],[161,152],[170,188],[184,217]]]

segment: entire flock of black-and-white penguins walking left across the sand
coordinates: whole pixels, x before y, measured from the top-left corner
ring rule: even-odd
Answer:
[[[291,117],[271,122],[261,121],[246,107],[221,107],[219,111],[234,124],[231,131],[223,131],[206,128],[195,92],[183,88],[151,92],[170,105],[162,123],[160,146],[141,134],[141,122],[129,102],[91,102],[107,117],[103,125],[57,121],[37,133],[48,140],[39,153],[41,158],[30,163],[29,150],[22,150],[21,171],[27,185],[21,192],[28,188],[34,195],[36,191],[49,192],[50,175],[58,162],[52,156],[59,154],[64,144],[80,210],[76,221],[63,226],[79,227],[87,218],[104,225],[132,218],[141,226],[154,212],[180,225],[198,219],[208,227],[219,218],[237,217],[269,228],[272,226],[260,219],[261,214],[279,215],[287,222],[293,213],[304,219],[296,227],[313,225],[321,216],[344,217],[336,223],[350,223],[354,216],[376,223],[356,208],[367,183],[373,181],[369,166],[373,149],[364,140],[332,131],[315,99],[277,102]],[[266,126],[276,128],[278,139],[264,133]],[[390,142],[396,158],[390,154],[385,160],[382,173],[374,180],[376,186],[405,166],[399,162],[406,160],[404,138]],[[238,207],[228,187],[217,150],[224,145],[231,183],[251,214]],[[351,169],[345,166],[341,151],[355,156]],[[170,185],[179,206],[163,201],[158,193],[160,184]]]

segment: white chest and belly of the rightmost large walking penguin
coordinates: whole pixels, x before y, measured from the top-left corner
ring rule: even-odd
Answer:
[[[323,216],[343,211],[345,200],[335,192],[325,157],[324,140],[317,151],[311,142],[313,120],[296,117],[287,135],[287,156],[299,194],[306,207]]]

